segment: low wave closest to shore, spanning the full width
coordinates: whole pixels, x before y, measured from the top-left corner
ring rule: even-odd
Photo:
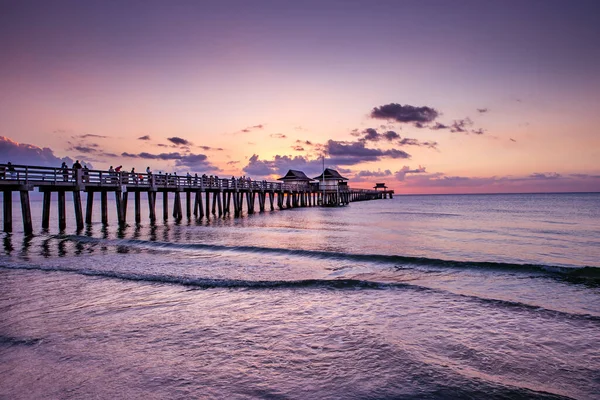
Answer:
[[[148,283],[160,283],[160,284],[173,284],[181,286],[189,286],[195,289],[247,289],[247,290],[264,290],[264,289],[329,289],[329,290],[413,290],[418,292],[431,292],[431,293],[442,293],[447,296],[456,296],[471,301],[476,301],[486,305],[493,305],[496,307],[512,308],[516,310],[522,310],[525,312],[535,313],[548,313],[555,316],[562,316],[565,318],[583,318],[586,320],[592,320],[600,322],[600,316],[591,314],[580,314],[580,313],[569,313],[565,311],[558,311],[540,307],[537,305],[531,305],[521,303],[518,301],[500,300],[487,297],[479,297],[475,295],[457,294],[444,289],[429,288],[425,286],[415,285],[407,282],[377,282],[361,279],[303,279],[303,280],[245,280],[245,279],[215,279],[215,278],[203,278],[203,277],[182,277],[173,275],[151,275],[151,274],[140,274],[133,272],[118,272],[118,271],[105,271],[105,270],[90,270],[90,269],[77,269],[71,267],[50,267],[50,266],[36,266],[36,265],[18,265],[18,266],[7,266],[0,265],[0,268],[5,269],[18,269],[18,270],[37,270],[44,272],[66,272],[75,273],[78,275],[101,277],[109,279],[119,279],[125,281],[136,281],[136,282],[148,282]],[[0,342],[2,338],[0,337]],[[34,343],[34,342],[32,342]],[[31,344],[31,343],[19,343],[19,344]]]

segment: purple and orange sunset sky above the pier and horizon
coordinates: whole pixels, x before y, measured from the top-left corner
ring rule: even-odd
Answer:
[[[598,38],[585,0],[0,0],[0,162],[600,191]]]

